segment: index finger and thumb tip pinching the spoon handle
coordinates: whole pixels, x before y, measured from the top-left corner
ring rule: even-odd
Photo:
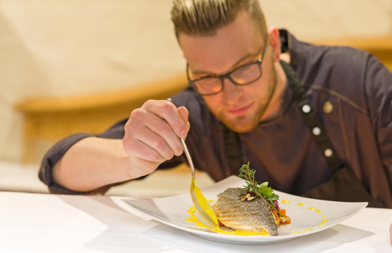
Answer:
[[[188,118],[188,111],[185,107],[178,110],[172,102],[167,100],[149,100],[145,102],[143,107],[147,111],[166,120],[178,137],[185,138],[187,136],[187,121],[183,118],[183,116]],[[183,116],[181,116],[180,112]]]

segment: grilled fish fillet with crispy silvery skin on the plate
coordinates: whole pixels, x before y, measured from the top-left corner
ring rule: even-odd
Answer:
[[[263,229],[269,235],[278,235],[278,226],[270,205],[262,198],[241,200],[241,188],[228,188],[218,194],[218,200],[212,206],[216,217],[225,226],[245,231]]]

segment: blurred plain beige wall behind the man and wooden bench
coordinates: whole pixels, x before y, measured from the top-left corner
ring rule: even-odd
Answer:
[[[390,0],[261,0],[298,38],[392,35]],[[0,0],[0,159],[20,160],[24,98],[122,89],[184,70],[171,0]]]

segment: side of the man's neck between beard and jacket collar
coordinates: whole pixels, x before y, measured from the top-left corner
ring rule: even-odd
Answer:
[[[281,109],[281,101],[283,92],[285,91],[287,85],[287,77],[285,71],[279,62],[275,62],[275,70],[276,70],[276,86],[274,93],[272,94],[271,100],[265,113],[260,119],[260,122],[267,122],[270,120],[274,120],[279,117],[279,112]]]

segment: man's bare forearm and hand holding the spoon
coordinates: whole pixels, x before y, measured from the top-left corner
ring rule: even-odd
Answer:
[[[165,100],[149,100],[132,111],[121,139],[87,137],[71,146],[53,167],[55,183],[92,191],[152,173],[181,155],[178,137],[189,131],[188,111]]]

